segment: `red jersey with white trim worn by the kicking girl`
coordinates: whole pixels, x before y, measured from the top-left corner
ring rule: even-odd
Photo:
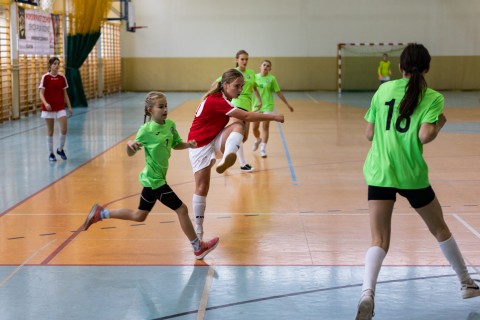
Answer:
[[[215,139],[230,120],[229,114],[235,106],[227,100],[223,92],[208,96],[198,106],[188,133],[188,141],[195,140],[198,147],[203,147]]]

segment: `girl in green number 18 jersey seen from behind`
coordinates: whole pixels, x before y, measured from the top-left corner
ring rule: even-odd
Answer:
[[[438,241],[458,276],[464,299],[480,296],[450,232],[428,179],[423,145],[433,141],[447,119],[443,96],[428,88],[424,75],[430,54],[421,44],[408,45],[400,55],[403,78],[379,87],[365,115],[366,137],[372,146],[363,173],[368,184],[371,247],[365,256],[365,275],[356,320],[371,319],[378,274],[390,246],[396,194],[407,198]]]

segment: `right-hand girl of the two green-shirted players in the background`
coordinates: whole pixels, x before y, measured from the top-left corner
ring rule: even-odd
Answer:
[[[265,114],[273,114],[275,110],[275,99],[273,97],[273,93],[276,93],[283,103],[287,105],[290,112],[293,112],[292,106],[288,103],[287,99],[285,99],[282,91],[280,91],[277,78],[271,74],[270,71],[272,71],[272,62],[270,60],[263,60],[262,64],[260,65],[260,73],[255,75],[255,81],[258,85],[258,92],[260,93],[263,103],[261,104],[261,107],[258,107],[260,103],[256,97],[253,97],[254,111]],[[253,143],[252,150],[257,151],[258,146],[260,146],[260,156],[262,158],[266,158],[270,121],[262,121],[261,126],[262,133],[260,134],[260,122],[254,122],[252,125],[252,132],[256,138],[255,142]]]

